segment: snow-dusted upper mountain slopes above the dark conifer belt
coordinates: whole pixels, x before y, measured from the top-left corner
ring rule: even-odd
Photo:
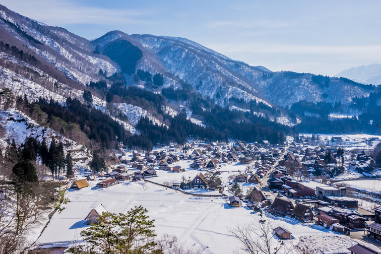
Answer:
[[[372,92],[369,87],[348,79],[290,71],[272,72],[263,66],[251,66],[185,38],[111,31],[89,41],[64,28],[42,24],[1,5],[0,40],[4,48],[14,46],[36,59],[34,64],[27,63],[14,54],[0,51],[0,74],[8,80],[6,86],[15,94],[27,94],[35,100],[40,96],[60,102],[68,96],[82,99],[82,91],[90,81],[105,78],[105,75],[100,75],[101,72],[111,76],[124,71],[127,66],[132,68],[130,72],[124,71],[127,85],[138,85],[155,93],[168,87],[184,89],[191,86],[192,93],[209,98],[220,106],[246,112],[249,105],[233,105],[230,101],[235,99],[250,103],[255,100],[274,109],[255,109],[255,115],[266,116],[270,120],[282,119],[277,122],[292,126],[298,121],[290,120],[287,108],[297,102],[340,103],[345,110],[353,98],[368,97]],[[125,51],[113,46],[118,42],[125,42]],[[118,59],[119,56],[122,58]],[[135,62],[132,61],[134,57]],[[21,65],[24,67],[20,68]],[[161,73],[162,85],[146,86],[145,81],[136,79],[138,70],[149,72],[152,76]],[[34,90],[34,87],[39,90]],[[95,92],[94,106],[105,110],[106,105],[105,94]],[[181,105],[187,107],[184,102]],[[129,105],[123,109],[118,104],[114,106],[128,111],[124,115],[129,122],[123,125],[133,132],[140,116],[155,116],[153,122],[163,124],[157,112],[148,112],[140,105]],[[180,104],[172,106],[179,109]],[[189,108],[186,110],[191,112]],[[188,117],[198,121],[196,116]]]

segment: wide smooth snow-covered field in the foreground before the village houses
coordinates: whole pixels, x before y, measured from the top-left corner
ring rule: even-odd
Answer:
[[[109,212],[116,213],[142,205],[148,209],[150,218],[155,219],[158,237],[175,235],[178,242],[190,248],[207,246],[205,254],[230,254],[238,250],[238,245],[229,229],[247,224],[257,216],[247,207],[231,208],[223,197],[193,197],[150,183],[126,182],[108,189],[96,188],[95,182],[89,184],[79,191],[67,191],[70,202],[63,205],[62,212],[53,215],[37,244],[56,247],[70,244],[88,227],[84,218],[100,203]],[[331,250],[324,250],[326,254],[349,253],[346,248],[356,244],[348,237],[293,219],[269,220],[272,226],[289,230],[295,237],[290,241],[297,243],[300,239],[312,238],[311,246],[330,246]]]

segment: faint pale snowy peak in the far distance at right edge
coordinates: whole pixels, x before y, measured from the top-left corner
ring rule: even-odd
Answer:
[[[381,64],[361,65],[340,71],[337,77],[346,77],[362,84],[381,84]]]

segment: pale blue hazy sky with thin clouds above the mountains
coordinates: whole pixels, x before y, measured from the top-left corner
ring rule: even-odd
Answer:
[[[94,39],[111,30],[185,37],[271,70],[334,75],[381,64],[381,1],[1,0]]]

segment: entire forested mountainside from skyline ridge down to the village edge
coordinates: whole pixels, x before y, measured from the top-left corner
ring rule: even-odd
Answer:
[[[1,109],[107,160],[121,146],[189,138],[282,143],[297,132],[379,131],[379,89],[346,78],[272,72],[184,38],[112,31],[89,41],[4,6],[0,34]]]

